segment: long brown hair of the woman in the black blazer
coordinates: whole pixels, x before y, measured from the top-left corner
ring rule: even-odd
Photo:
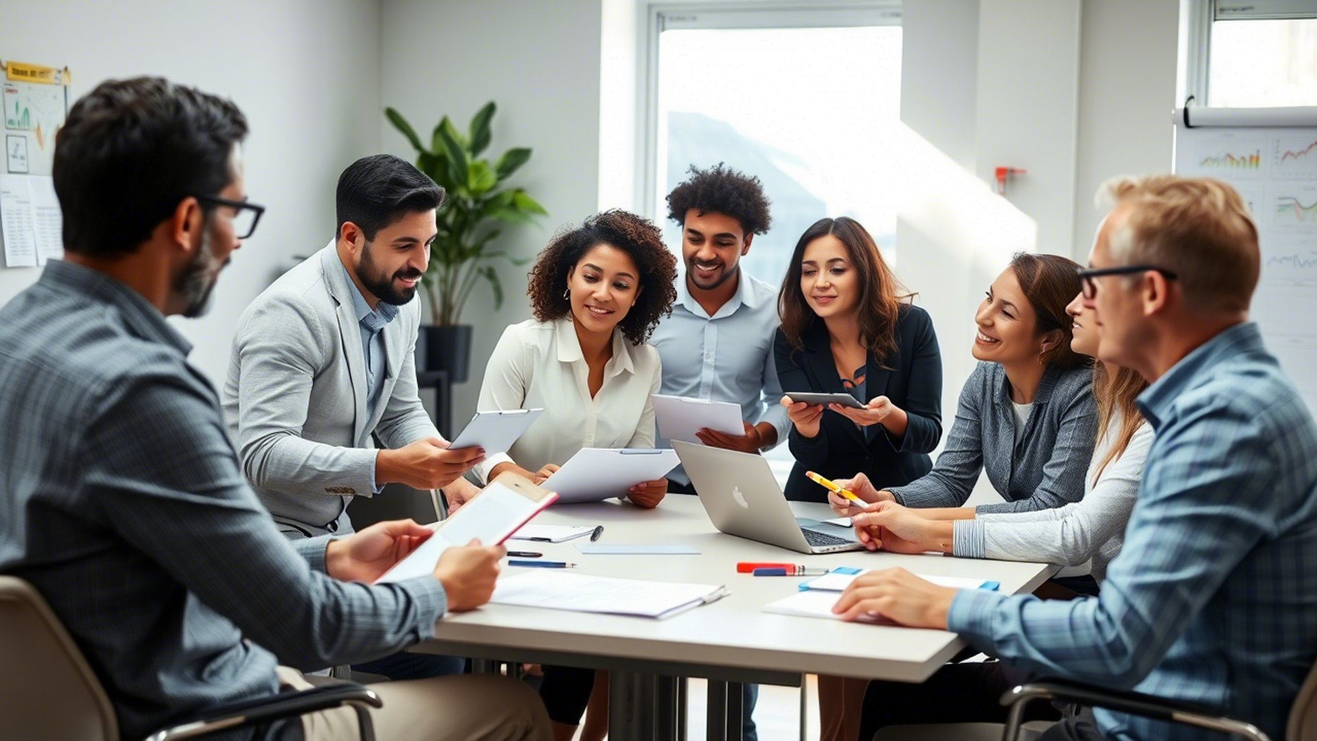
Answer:
[[[792,347],[801,349],[805,347],[802,336],[813,326],[818,316],[810,305],[805,302],[801,293],[801,261],[805,260],[805,248],[822,236],[832,235],[851,256],[860,276],[860,301],[856,309],[856,320],[860,326],[860,344],[877,359],[882,365],[885,359],[897,352],[897,318],[901,305],[914,297],[882,260],[878,245],[874,244],[869,232],[855,219],[840,216],[838,219],[819,219],[805,229],[795,243],[792,261],[786,266],[786,278],[782,280],[782,290],[777,294],[777,314],[782,320],[782,334]],[[885,368],[885,365],[882,365]]]

